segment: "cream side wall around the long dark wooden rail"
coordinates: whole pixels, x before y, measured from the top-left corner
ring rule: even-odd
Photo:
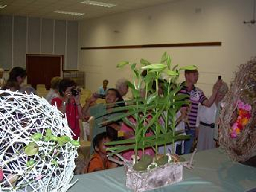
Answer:
[[[251,20],[253,0],[178,0],[79,23],[79,46],[116,46],[221,41],[218,47],[164,47],[144,49],[80,50],[79,70],[86,72],[86,87],[95,91],[103,79],[113,87],[127,70],[116,69],[119,61],[157,62],[164,51],[173,64],[199,67],[198,87],[210,95],[218,75],[230,83],[239,64],[256,56],[256,25]],[[117,33],[114,31],[118,31]]]

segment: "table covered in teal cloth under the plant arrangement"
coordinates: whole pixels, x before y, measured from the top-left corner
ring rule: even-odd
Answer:
[[[191,154],[184,155],[187,160]],[[129,192],[123,167],[76,175],[69,192]],[[233,162],[220,148],[200,151],[194,169],[183,168],[183,180],[153,192],[244,192],[256,188],[256,168]]]

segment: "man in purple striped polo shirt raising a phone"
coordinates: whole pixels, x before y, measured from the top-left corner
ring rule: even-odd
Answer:
[[[179,93],[187,94],[189,96],[189,100],[191,102],[191,105],[189,107],[188,117],[189,117],[189,125],[186,124],[186,134],[190,135],[189,140],[185,140],[185,146],[184,146],[184,154],[188,154],[191,152],[193,140],[195,138],[195,125],[196,125],[196,119],[198,115],[198,105],[201,103],[201,105],[204,105],[206,107],[212,106],[212,103],[215,100],[215,97],[217,95],[217,92],[219,88],[221,87],[222,81],[218,80],[212,90],[212,96],[210,96],[209,99],[207,99],[206,96],[204,96],[204,92],[200,90],[198,87],[195,87],[195,84],[198,81],[198,70],[185,70],[185,79],[186,81],[183,82],[183,86]]]

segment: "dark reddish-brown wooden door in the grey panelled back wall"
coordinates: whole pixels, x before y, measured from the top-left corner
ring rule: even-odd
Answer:
[[[26,55],[27,84],[36,88],[37,84],[45,84],[50,88],[52,77],[62,77],[63,55]]]

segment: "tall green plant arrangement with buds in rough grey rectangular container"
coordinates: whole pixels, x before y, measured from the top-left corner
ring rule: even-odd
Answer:
[[[109,142],[107,143],[107,150],[111,151],[109,156],[127,150],[134,150],[134,162],[126,162],[126,164],[129,164],[127,177],[134,180],[134,175],[131,174],[142,174],[142,172],[148,172],[149,170],[151,172],[158,166],[177,163],[175,156],[158,155],[158,148],[164,146],[164,154],[167,154],[169,151],[166,150],[166,145],[189,138],[189,136],[181,135],[181,131],[175,131],[175,127],[177,122],[176,113],[183,105],[189,105],[188,96],[178,94],[181,88],[181,84],[178,82],[180,70],[190,69],[193,66],[183,68],[178,68],[177,65],[173,66],[172,59],[166,52],[163,54],[160,63],[150,63],[141,59],[140,64],[122,61],[117,65],[118,68],[126,66],[129,66],[132,71],[132,81],[128,82],[128,86],[133,99],[127,101],[125,107],[117,107],[113,110],[114,113],[127,111],[126,113],[109,119],[105,123],[122,119],[125,124],[133,129],[133,138]],[[142,90],[145,93],[143,96],[141,94]],[[131,122],[131,119],[134,121]],[[153,132],[153,134],[146,137],[148,131]],[[174,145],[172,146],[174,147]],[[155,157],[151,158],[148,155],[143,155],[138,160],[138,151],[141,150],[144,154],[145,148],[149,147],[154,149]],[[172,149],[173,152],[174,148]],[[134,191],[144,191],[162,186],[154,182],[153,186],[144,186],[143,183],[150,183],[147,180],[148,174],[145,174],[143,178],[147,182],[144,182],[145,180],[138,182],[136,179],[136,181],[127,181],[128,188]],[[173,180],[172,183],[177,182],[177,180],[180,179]]]

